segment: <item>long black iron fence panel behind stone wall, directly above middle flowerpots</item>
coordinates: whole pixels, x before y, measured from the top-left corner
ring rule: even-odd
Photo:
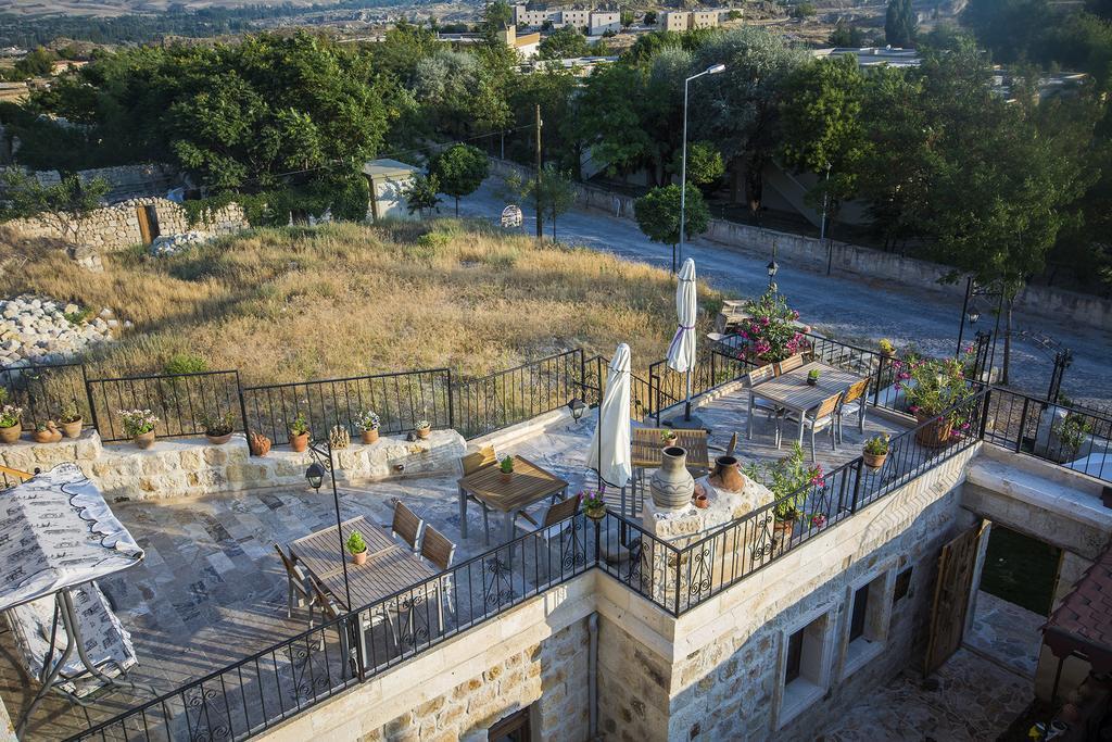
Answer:
[[[358,431],[365,410],[379,416],[385,435],[407,433],[421,421],[446,428],[453,426],[450,389],[447,368],[252,386],[242,390],[244,416],[251,431],[279,445],[299,413],[314,439],[327,438],[337,425]]]

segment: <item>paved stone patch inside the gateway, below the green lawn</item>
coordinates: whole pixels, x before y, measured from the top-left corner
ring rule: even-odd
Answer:
[[[1045,622],[1046,616],[980,590],[965,643],[1021,675],[1034,677]]]

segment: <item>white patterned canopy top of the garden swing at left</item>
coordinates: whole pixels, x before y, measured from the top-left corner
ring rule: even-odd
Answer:
[[[76,464],[0,497],[0,611],[138,564],[143,551]]]

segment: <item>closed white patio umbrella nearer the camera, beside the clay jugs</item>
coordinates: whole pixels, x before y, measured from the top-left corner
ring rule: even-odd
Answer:
[[[618,345],[598,405],[598,425],[587,451],[587,466],[612,487],[624,487],[633,475],[629,436],[629,346]]]

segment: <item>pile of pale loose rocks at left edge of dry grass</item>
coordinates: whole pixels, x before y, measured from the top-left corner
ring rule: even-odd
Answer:
[[[121,326],[107,307],[96,317],[82,314],[76,304],[37,296],[0,299],[0,367],[67,360],[108,343]]]

